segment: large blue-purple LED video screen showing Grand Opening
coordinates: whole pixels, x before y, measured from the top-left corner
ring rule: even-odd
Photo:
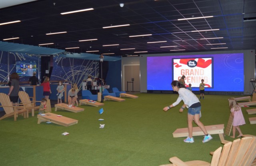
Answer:
[[[172,90],[173,80],[185,75],[185,85],[206,91],[244,91],[244,54],[147,57],[147,90]]]

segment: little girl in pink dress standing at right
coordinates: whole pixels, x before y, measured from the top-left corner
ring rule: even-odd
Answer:
[[[245,124],[244,115],[242,113],[240,105],[238,105],[235,98],[230,98],[228,102],[229,102],[231,115],[233,117],[233,137],[232,138],[235,138],[236,129],[239,133],[237,137],[241,137],[243,134],[239,126]]]

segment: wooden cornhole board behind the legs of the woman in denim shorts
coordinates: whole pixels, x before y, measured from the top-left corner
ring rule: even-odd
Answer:
[[[224,124],[221,125],[210,125],[204,126],[208,134],[218,134],[220,136],[220,141],[224,140]],[[172,133],[173,137],[188,137],[188,128],[176,129]],[[193,136],[204,135],[204,132],[200,127],[193,127]]]

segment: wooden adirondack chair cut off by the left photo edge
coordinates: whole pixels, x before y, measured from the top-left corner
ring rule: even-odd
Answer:
[[[4,93],[0,93],[0,99],[1,99],[0,103],[6,113],[4,116],[0,117],[0,120],[4,119],[6,117],[14,116],[14,121],[16,121],[17,115],[20,113],[24,113],[24,118],[26,118],[26,114],[28,111],[27,111],[27,109],[25,109],[25,107],[12,105],[12,102],[10,101],[9,96]],[[18,105],[21,105],[21,104],[18,104]]]

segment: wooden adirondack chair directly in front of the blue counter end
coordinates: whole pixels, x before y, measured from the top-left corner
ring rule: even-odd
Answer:
[[[30,101],[30,98],[28,96],[28,94],[24,91],[20,91],[19,92],[19,98],[20,101],[22,102],[22,104],[25,104],[26,109],[28,111],[32,112],[32,116],[34,116],[34,111],[36,109],[39,109],[39,106],[36,106],[36,102],[41,102],[41,101]],[[27,117],[28,117],[28,112],[27,112]]]

